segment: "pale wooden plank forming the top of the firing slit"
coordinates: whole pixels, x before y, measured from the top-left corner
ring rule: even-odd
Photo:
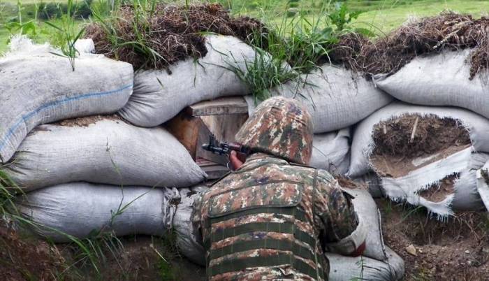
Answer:
[[[201,101],[187,108],[192,116],[247,114],[248,104],[242,96],[228,96],[212,101]]]

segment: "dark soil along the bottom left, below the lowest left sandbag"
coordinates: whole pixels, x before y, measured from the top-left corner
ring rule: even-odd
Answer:
[[[93,267],[75,262],[73,245],[50,245],[34,237],[0,226],[1,280],[182,280],[205,281],[205,268],[175,252],[175,243],[161,238],[133,236],[120,238],[124,248]],[[160,257],[161,256],[163,257]]]

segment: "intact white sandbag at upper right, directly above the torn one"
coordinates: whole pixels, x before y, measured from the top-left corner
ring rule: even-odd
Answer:
[[[377,75],[375,84],[408,103],[459,106],[489,118],[489,72],[470,76],[472,49],[416,57],[393,75]]]

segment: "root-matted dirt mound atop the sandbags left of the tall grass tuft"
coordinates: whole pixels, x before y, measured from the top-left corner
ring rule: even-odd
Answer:
[[[258,20],[232,18],[216,3],[188,8],[159,3],[154,12],[140,13],[132,6],[122,6],[117,20],[111,23],[113,28],[90,24],[86,37],[94,40],[96,52],[129,62],[135,69],[165,69],[187,57],[204,57],[207,49],[203,32],[236,36],[243,41],[251,40],[254,33],[265,32]],[[122,45],[125,43],[129,44]]]

